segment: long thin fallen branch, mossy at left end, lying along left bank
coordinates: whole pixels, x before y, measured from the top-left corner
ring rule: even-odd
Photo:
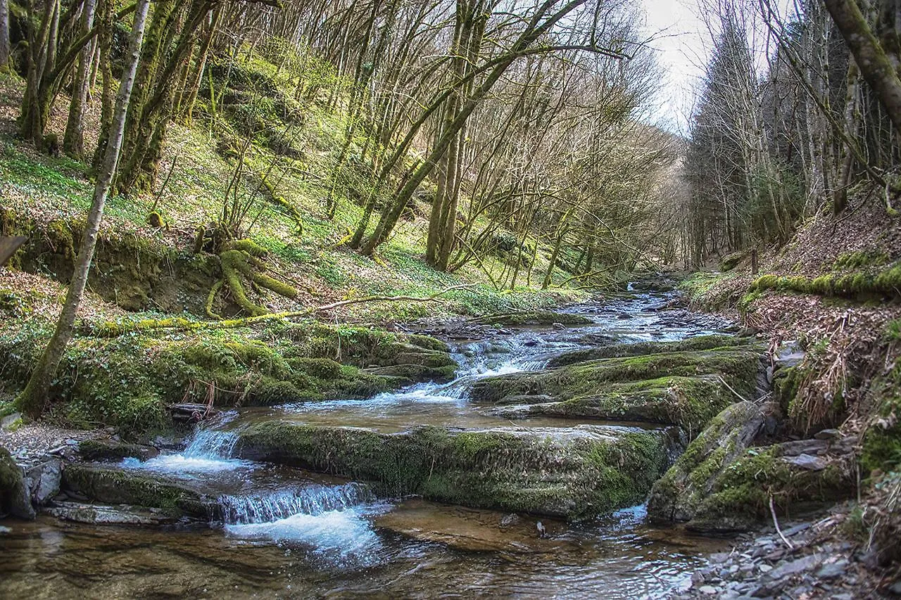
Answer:
[[[368,295],[361,298],[350,298],[348,300],[340,300],[332,302],[328,305],[313,306],[300,311],[285,311],[281,313],[259,314],[242,319],[229,319],[226,321],[191,321],[188,319],[173,317],[170,319],[147,319],[137,323],[105,323],[97,327],[92,327],[85,335],[93,335],[95,337],[117,337],[129,332],[147,332],[158,330],[169,331],[198,331],[205,329],[233,329],[237,327],[246,327],[255,323],[265,321],[291,320],[314,316],[315,314],[331,311],[342,306],[370,304],[375,302],[443,302],[441,296],[447,295],[458,289],[472,287],[475,284],[463,284],[460,286],[445,287],[440,292],[429,296],[415,295]]]

